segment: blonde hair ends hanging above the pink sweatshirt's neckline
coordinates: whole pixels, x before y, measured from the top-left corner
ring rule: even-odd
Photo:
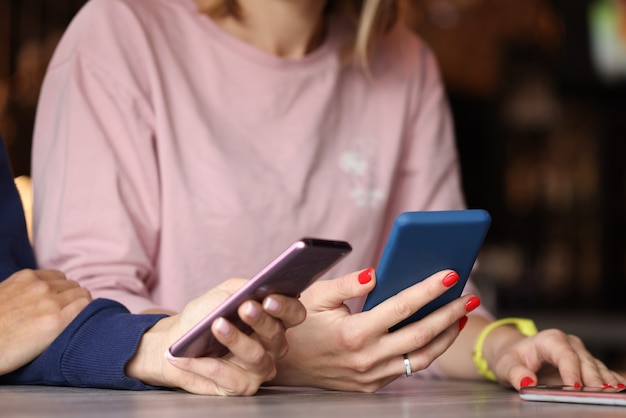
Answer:
[[[241,18],[237,0],[196,0],[196,3],[209,16]],[[328,0],[326,13],[338,13],[353,24],[353,42],[345,55],[367,70],[370,51],[398,23],[401,9],[408,6],[408,1],[401,0]]]

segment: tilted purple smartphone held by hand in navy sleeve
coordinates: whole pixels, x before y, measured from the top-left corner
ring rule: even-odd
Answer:
[[[228,349],[215,339],[211,324],[224,317],[235,327],[251,334],[252,329],[237,314],[246,300],[262,301],[270,294],[296,297],[328,269],[346,256],[352,247],[345,241],[302,238],[294,242],[274,261],[237,292],[196,324],[169,349],[174,357],[221,357]]]

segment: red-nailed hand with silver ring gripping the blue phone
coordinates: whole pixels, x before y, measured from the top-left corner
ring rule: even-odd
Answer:
[[[351,314],[346,300],[362,297],[375,285],[372,269],[316,282],[302,294],[304,323],[287,332],[289,353],[278,362],[271,383],[373,392],[405,374],[426,368],[443,353],[465,324],[465,314],[480,303],[467,295],[424,319],[387,330],[444,293],[458,280],[450,270],[436,273],[374,309]],[[467,305],[467,306],[466,306]]]

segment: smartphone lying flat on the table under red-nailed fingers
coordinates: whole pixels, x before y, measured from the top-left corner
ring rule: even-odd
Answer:
[[[626,406],[626,389],[574,386],[529,386],[520,389],[526,401]]]

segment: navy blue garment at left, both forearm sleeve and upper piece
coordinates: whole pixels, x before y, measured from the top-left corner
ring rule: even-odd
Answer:
[[[35,257],[0,138],[0,282],[25,268],[36,268]],[[38,358],[0,376],[0,384],[151,389],[127,377],[124,368],[146,330],[164,316],[132,315],[117,302],[97,299]]]

